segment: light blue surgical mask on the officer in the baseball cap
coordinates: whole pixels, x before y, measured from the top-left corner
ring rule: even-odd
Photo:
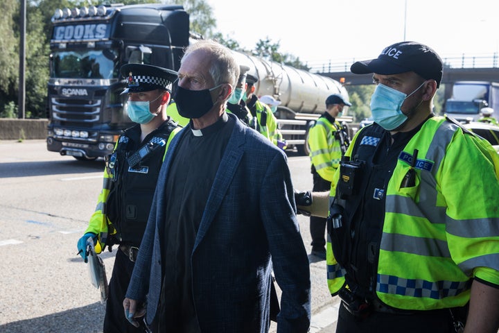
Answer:
[[[403,102],[425,83],[426,81],[421,83],[409,95],[379,83],[371,96],[371,113],[374,122],[385,130],[394,130],[401,126],[408,119],[401,111]]]

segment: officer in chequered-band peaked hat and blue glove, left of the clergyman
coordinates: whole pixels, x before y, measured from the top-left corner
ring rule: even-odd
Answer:
[[[128,64],[121,67],[121,75],[127,79],[122,94],[128,94],[128,116],[137,124],[119,137],[107,159],[96,211],[78,241],[78,250],[85,261],[89,237],[94,239],[96,253],[105,246],[119,246],[109,284],[105,333],[143,332],[143,327],[138,329],[128,324],[122,303],[148,221],[164,153],[177,132],[177,124],[166,115],[177,73],[150,65]]]

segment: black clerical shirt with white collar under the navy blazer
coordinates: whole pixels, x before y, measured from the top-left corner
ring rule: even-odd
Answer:
[[[224,114],[207,128],[190,130],[175,151],[165,185],[159,332],[200,332],[192,296],[191,253],[235,121]]]

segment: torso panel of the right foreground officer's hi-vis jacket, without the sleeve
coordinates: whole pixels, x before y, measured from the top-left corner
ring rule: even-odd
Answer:
[[[387,305],[437,309],[464,305],[469,298],[465,292],[469,277],[455,265],[448,250],[448,216],[439,201],[436,180],[456,130],[455,124],[443,118],[428,119],[399,155],[389,180],[376,284],[378,298]],[[412,159],[414,149],[419,150],[416,186],[401,188],[410,169],[406,156]]]

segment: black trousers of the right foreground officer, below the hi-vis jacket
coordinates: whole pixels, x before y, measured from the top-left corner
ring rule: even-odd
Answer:
[[[336,333],[454,333],[448,309],[417,314],[373,312],[367,318],[353,316],[343,305],[338,314]]]

